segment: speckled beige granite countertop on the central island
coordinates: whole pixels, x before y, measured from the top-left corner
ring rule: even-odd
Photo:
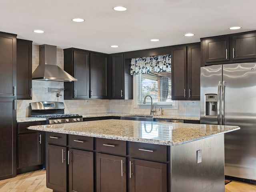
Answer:
[[[30,126],[28,129],[151,144],[180,145],[239,130],[240,127],[110,119]]]

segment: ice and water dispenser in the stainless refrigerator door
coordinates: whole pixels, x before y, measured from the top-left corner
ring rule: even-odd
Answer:
[[[217,116],[217,94],[205,94],[205,116]]]

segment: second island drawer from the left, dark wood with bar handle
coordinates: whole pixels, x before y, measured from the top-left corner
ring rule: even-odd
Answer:
[[[68,145],[72,148],[93,150],[93,137],[68,135]]]

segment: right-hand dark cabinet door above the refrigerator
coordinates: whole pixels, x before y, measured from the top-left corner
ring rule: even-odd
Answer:
[[[256,33],[232,37],[233,60],[256,58]]]

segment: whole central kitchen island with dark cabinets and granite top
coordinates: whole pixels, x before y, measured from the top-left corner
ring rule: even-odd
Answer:
[[[56,192],[224,192],[224,133],[240,128],[97,120],[28,129],[46,131]]]

